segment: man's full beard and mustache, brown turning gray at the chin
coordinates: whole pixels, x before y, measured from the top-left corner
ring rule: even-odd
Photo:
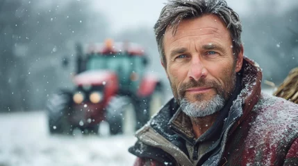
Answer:
[[[201,78],[198,81],[190,80],[189,82],[181,84],[180,88],[177,89],[174,84],[170,81],[174,98],[180,104],[182,111],[192,118],[199,118],[204,116],[210,116],[217,111],[220,111],[224,104],[233,93],[235,89],[235,73],[224,73],[230,75],[224,80],[224,85],[215,82],[214,80],[206,80]],[[206,94],[194,95],[194,102],[191,102],[185,95],[186,90],[196,87],[212,87],[215,89],[215,95],[210,99],[206,99]]]

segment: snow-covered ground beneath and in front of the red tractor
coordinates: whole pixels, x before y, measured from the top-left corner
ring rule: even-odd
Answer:
[[[133,136],[50,136],[44,111],[0,114],[1,166],[133,165]],[[104,133],[104,131],[103,131]]]

